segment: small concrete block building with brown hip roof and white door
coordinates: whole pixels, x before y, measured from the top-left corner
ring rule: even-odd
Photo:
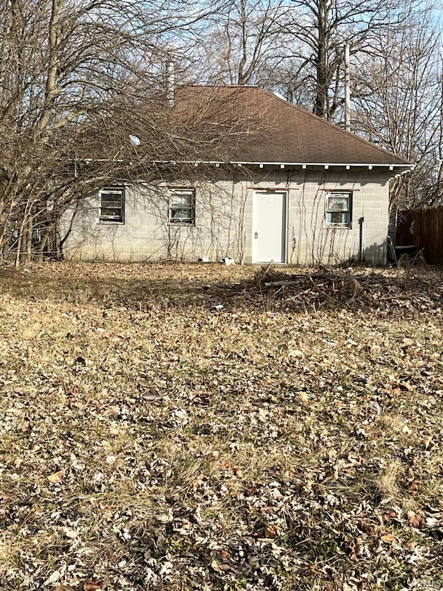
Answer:
[[[407,160],[257,87],[183,87],[170,108],[205,121],[195,173],[163,156],[156,179],[98,187],[64,220],[68,258],[386,264]]]

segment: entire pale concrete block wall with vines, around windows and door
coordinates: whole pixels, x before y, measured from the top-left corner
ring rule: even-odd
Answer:
[[[170,182],[138,191],[126,189],[125,222],[100,222],[100,200],[80,203],[65,254],[83,260],[150,261],[166,258],[197,261],[224,256],[252,261],[252,208],[255,190],[287,191],[287,262],[338,264],[359,254],[359,218],[363,223],[363,256],[386,263],[389,175],[383,171],[255,170],[226,175],[216,182]],[[195,187],[195,226],[168,224],[167,186]],[[352,227],[328,228],[327,190],[351,191]],[[69,212],[64,229],[69,225]]]

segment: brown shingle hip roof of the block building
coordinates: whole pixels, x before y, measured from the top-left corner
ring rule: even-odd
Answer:
[[[176,91],[173,110],[190,126],[195,127],[196,119],[204,122],[201,128],[206,139],[209,130],[213,130],[214,139],[226,132],[232,162],[410,165],[406,159],[257,87],[182,87]],[[214,158],[215,153],[206,150],[206,159]]]

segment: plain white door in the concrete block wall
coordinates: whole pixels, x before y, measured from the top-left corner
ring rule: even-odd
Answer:
[[[287,194],[255,191],[252,206],[253,263],[286,263]]]

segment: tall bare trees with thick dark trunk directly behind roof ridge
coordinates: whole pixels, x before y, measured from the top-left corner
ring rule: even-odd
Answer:
[[[275,89],[333,120],[343,106],[345,42],[364,53],[401,18],[393,0],[230,0],[201,36],[206,78]]]

